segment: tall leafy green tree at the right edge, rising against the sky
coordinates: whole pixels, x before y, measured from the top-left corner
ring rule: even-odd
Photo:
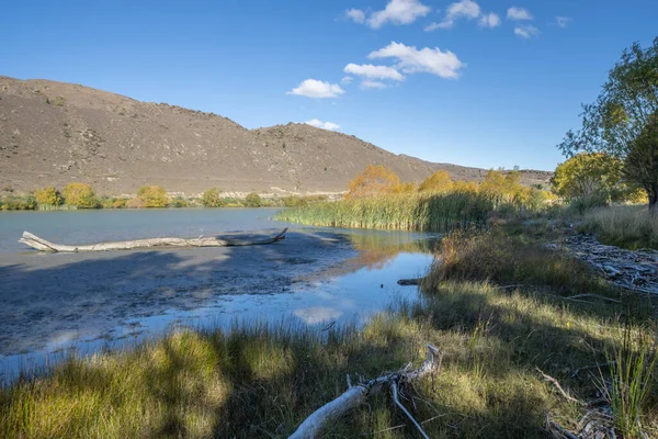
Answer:
[[[658,37],[625,49],[594,103],[583,105],[582,127],[558,145],[570,157],[606,153],[623,161],[624,178],[642,187],[649,209],[658,205]]]

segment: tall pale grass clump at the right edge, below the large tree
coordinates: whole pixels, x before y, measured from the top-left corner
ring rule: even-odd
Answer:
[[[588,211],[581,229],[593,233],[603,244],[628,249],[658,249],[658,215],[646,205],[622,205]]]

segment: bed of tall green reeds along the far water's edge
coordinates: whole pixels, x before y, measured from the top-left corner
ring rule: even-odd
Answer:
[[[486,222],[494,202],[474,192],[393,194],[302,205],[275,219],[315,226],[400,230],[445,230]]]

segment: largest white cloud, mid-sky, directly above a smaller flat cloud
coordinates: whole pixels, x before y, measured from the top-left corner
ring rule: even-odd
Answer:
[[[456,78],[464,64],[450,50],[442,52],[439,47],[423,47],[420,50],[413,46],[392,42],[388,46],[372,52],[370,59],[395,58],[395,67],[406,74],[432,74],[441,78]]]

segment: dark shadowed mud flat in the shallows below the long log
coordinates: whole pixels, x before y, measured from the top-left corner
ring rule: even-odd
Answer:
[[[354,255],[344,236],[298,230],[266,246],[0,255],[0,356],[109,337],[126,320],[218,295],[286,292]]]

